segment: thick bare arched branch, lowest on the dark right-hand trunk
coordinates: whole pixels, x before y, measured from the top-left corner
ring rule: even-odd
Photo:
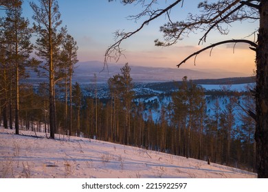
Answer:
[[[221,41],[219,43],[214,43],[208,47],[205,47],[195,53],[192,53],[190,56],[188,56],[186,59],[184,59],[182,62],[180,62],[179,64],[177,64],[177,67],[179,68],[181,66],[181,64],[185,63],[187,60],[189,60],[190,58],[192,58],[193,56],[197,56],[199,53],[207,50],[207,49],[211,49],[213,47],[216,47],[218,45],[223,45],[223,44],[227,44],[227,43],[247,43],[249,45],[251,45],[252,47],[254,47],[256,49],[257,45],[256,43],[252,42],[251,40],[245,40],[245,39],[232,39],[232,40],[224,40]]]

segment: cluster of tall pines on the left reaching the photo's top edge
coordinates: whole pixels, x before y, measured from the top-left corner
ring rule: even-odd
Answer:
[[[32,27],[29,20],[22,16],[23,1],[2,0],[0,3],[6,14],[0,21],[0,94],[3,126],[8,128],[9,117],[9,126],[13,128],[14,118],[14,128],[16,134],[19,134],[19,113],[27,111],[29,107],[23,108],[23,104],[28,102],[29,97],[27,95],[29,91],[25,90],[32,86],[21,83],[21,80],[29,77],[30,73],[27,71],[32,70],[38,73],[39,77],[45,77],[47,80],[42,84],[43,95],[47,96],[43,98],[43,111],[49,117],[50,137],[54,139],[56,88],[63,88],[65,97],[71,99],[70,82],[74,73],[74,64],[78,62],[78,46],[74,38],[67,33],[67,27],[62,26],[63,21],[60,20],[56,0],[40,0],[38,5],[30,2],[34,12],[32,19],[35,21]],[[32,43],[32,36],[36,38],[35,43]],[[36,57],[33,57],[33,54]],[[71,113],[67,114],[68,104],[65,105],[65,119],[67,119],[67,115],[71,116]],[[34,110],[41,110],[41,108],[36,107]]]

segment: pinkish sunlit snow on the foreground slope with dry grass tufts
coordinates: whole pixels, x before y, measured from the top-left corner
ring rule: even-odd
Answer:
[[[0,128],[0,178],[256,178],[256,173],[104,141]]]

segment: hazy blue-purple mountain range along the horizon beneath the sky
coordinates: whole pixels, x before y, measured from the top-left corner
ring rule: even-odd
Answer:
[[[120,73],[123,64],[108,64],[103,62],[88,61],[78,62],[74,69],[74,81],[81,84],[94,82],[94,73],[98,82],[107,82],[109,77]],[[131,77],[134,82],[170,82],[181,81],[184,76],[192,80],[220,79],[226,77],[245,77],[243,73],[230,73],[227,71],[196,71],[191,69],[172,69],[165,67],[141,67],[131,66]]]

